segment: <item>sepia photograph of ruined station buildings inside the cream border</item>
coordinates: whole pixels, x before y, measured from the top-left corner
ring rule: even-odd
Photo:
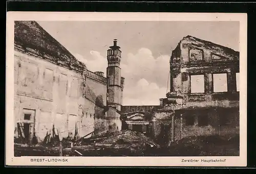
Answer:
[[[241,156],[241,21],[12,25],[14,158]]]

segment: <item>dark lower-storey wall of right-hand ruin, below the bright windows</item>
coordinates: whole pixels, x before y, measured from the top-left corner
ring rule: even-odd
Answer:
[[[151,136],[165,145],[188,136],[239,134],[239,108],[201,108],[177,110],[175,113],[157,111],[150,129]]]

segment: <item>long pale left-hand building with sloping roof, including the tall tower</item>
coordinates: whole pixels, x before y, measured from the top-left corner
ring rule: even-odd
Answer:
[[[116,40],[104,77],[88,70],[37,22],[14,25],[15,140],[40,143],[55,130],[63,138],[121,130],[124,78]]]

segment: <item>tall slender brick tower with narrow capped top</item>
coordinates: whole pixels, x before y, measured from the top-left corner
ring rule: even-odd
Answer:
[[[121,51],[117,45],[117,39],[114,39],[114,45],[110,46],[107,54],[108,67],[106,68],[107,78],[107,106],[106,118],[109,119],[109,128],[121,130],[120,112],[122,105],[122,91],[124,78],[121,77]]]

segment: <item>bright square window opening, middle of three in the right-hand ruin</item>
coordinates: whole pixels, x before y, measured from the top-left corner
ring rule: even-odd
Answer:
[[[214,92],[227,92],[227,74],[214,74]]]

